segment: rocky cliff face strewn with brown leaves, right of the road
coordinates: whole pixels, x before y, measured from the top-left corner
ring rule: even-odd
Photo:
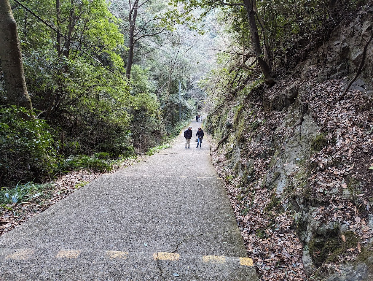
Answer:
[[[338,100],[372,13],[363,7],[291,76],[251,86],[205,123],[216,140],[233,128],[213,158],[264,280],[282,278],[279,266],[289,280],[373,280],[373,43]]]

